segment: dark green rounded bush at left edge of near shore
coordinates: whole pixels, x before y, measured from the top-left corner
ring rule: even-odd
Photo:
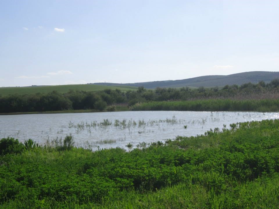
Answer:
[[[24,146],[22,143],[19,143],[18,139],[8,137],[0,140],[0,155],[17,154],[23,150]]]

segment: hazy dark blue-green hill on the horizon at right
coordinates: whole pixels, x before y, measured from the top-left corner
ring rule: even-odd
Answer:
[[[225,86],[225,85],[241,85],[244,83],[258,83],[264,81],[269,83],[271,80],[279,78],[279,72],[269,72],[269,71],[252,71],[244,73],[235,73],[231,75],[206,75],[199,76],[196,78],[188,78],[183,80],[165,80],[165,81],[152,81],[152,82],[141,82],[141,83],[94,83],[95,85],[125,85],[134,87],[145,87],[147,89],[154,89],[156,87],[215,87],[215,86]]]

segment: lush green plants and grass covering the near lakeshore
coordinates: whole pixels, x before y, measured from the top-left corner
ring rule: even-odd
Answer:
[[[142,149],[0,141],[1,208],[278,208],[279,120]]]

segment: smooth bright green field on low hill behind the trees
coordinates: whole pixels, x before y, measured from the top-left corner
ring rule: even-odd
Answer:
[[[6,96],[10,94],[35,94],[49,93],[58,91],[58,93],[66,93],[69,90],[79,91],[102,91],[104,89],[120,89],[121,91],[135,90],[137,87],[131,86],[101,86],[92,84],[74,84],[74,85],[57,85],[57,86],[33,86],[33,87],[1,87],[0,95]]]

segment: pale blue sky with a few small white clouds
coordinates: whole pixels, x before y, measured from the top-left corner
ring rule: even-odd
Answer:
[[[0,0],[0,87],[279,71],[278,0]]]

